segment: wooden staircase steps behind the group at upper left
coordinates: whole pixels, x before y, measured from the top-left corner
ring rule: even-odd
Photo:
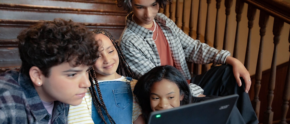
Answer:
[[[106,29],[118,40],[125,27],[126,15],[110,0],[1,0],[0,73],[19,69],[17,36],[39,20],[72,19],[91,30]]]

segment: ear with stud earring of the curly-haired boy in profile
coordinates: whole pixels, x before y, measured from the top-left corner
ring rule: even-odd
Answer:
[[[30,70],[29,70],[29,76],[30,76],[30,79],[31,79],[32,83],[35,86],[41,86],[42,85],[43,74],[42,74],[42,71],[38,67],[32,66],[30,68]]]

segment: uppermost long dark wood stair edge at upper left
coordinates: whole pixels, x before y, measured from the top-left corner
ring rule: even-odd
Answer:
[[[14,11],[36,11],[36,12],[56,12],[56,13],[76,13],[76,14],[106,14],[106,15],[119,15],[126,16],[126,11],[116,10],[89,10],[89,9],[77,9],[66,8],[56,6],[44,6],[44,5],[26,5],[26,4],[14,4],[14,3],[0,3],[0,9],[2,10],[14,10]]]

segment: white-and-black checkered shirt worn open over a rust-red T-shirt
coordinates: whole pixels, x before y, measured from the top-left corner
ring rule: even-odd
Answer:
[[[138,79],[152,68],[161,66],[161,62],[153,32],[131,21],[132,14],[131,12],[126,17],[126,27],[119,41],[122,52]],[[168,41],[175,67],[186,79],[191,79],[186,60],[197,64],[224,64],[226,57],[231,54],[192,39],[162,13],[157,13],[155,21]],[[199,95],[203,92],[198,87],[192,94]]]

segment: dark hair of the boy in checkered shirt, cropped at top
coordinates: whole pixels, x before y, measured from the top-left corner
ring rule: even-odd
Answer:
[[[165,8],[166,4],[169,3],[171,0],[156,0],[159,3],[161,8]],[[123,7],[123,10],[130,13],[132,11],[132,0],[117,0],[117,6]]]

